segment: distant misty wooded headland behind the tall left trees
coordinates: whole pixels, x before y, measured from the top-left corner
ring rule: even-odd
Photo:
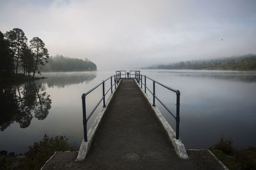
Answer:
[[[49,62],[42,67],[40,71],[94,71],[97,70],[96,64],[88,59],[72,59],[63,57],[63,55],[56,55],[50,57]]]

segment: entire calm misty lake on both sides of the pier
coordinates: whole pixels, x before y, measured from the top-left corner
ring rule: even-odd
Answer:
[[[1,87],[0,150],[24,153],[44,134],[67,136],[79,147],[83,139],[81,94],[112,74],[115,72],[42,73],[47,78]],[[221,134],[232,138],[235,146],[255,146],[256,72],[141,70],[141,74],[180,90],[180,139],[186,149],[208,148]],[[147,85],[152,89],[152,81]],[[175,113],[173,92],[156,85],[156,95]],[[86,97],[87,111],[100,96],[99,87]],[[101,106],[90,118],[88,129]],[[174,118],[159,103],[156,106],[175,127]]]

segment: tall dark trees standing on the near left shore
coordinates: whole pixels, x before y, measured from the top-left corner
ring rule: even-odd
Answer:
[[[32,38],[28,43],[25,33],[22,29],[14,28],[3,34],[0,31],[0,76],[13,76],[19,74],[19,70],[24,75],[36,71],[39,73],[39,67],[44,66],[49,58],[44,41],[38,37]]]

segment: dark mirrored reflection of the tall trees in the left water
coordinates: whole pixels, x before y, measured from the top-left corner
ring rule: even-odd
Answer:
[[[34,117],[44,120],[51,108],[50,95],[42,83],[36,85],[30,81],[22,85],[0,87],[0,130],[4,131],[10,124],[17,122],[21,128],[30,125]]]

